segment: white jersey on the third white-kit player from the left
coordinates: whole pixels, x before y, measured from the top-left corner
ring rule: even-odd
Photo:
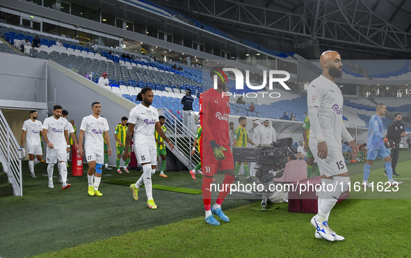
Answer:
[[[103,132],[108,131],[107,119],[99,117],[96,119],[90,114],[88,117],[83,117],[80,130],[84,131],[84,148],[93,148],[95,150],[104,149]]]

